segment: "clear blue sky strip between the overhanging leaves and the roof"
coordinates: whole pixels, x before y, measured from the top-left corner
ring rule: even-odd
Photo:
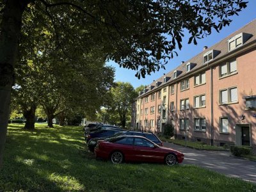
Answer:
[[[182,41],[182,49],[176,50],[179,55],[177,57],[175,56],[175,58],[168,62],[168,64],[165,66],[166,70],[161,69],[156,73],[152,73],[150,76],[146,76],[145,78],[136,78],[136,71],[128,70],[126,68],[120,68],[119,65],[117,65],[113,61],[109,61],[108,65],[116,68],[115,81],[129,82],[132,84],[132,86],[134,86],[134,88],[137,88],[141,84],[148,85],[152,83],[152,81],[163,76],[163,74],[167,74],[168,72],[173,70],[173,68],[176,68],[178,65],[180,65],[181,61],[187,61],[196,54],[202,52],[204,46],[211,47],[212,45],[220,42],[220,40],[230,35],[237,29],[242,28],[253,19],[256,19],[256,1],[249,0],[248,6],[242,12],[240,12],[238,16],[232,17],[233,21],[231,22],[230,26],[226,26],[225,28],[221,29],[220,33],[212,31],[213,33],[211,35],[207,36],[204,39],[198,40],[197,45],[188,45],[189,36],[186,36],[186,38],[184,38],[184,40]]]

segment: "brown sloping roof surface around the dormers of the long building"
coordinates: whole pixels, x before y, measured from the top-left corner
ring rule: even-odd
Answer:
[[[195,71],[196,69],[202,67],[203,65],[205,65],[203,63],[204,61],[204,54],[208,51],[211,50],[216,50],[219,51],[220,53],[214,57],[214,59],[212,61],[218,60],[218,58],[221,58],[222,56],[225,56],[228,53],[231,53],[233,51],[236,51],[237,49],[234,49],[233,51],[228,51],[228,40],[230,38],[232,38],[233,36],[239,35],[240,33],[247,33],[250,34],[251,36],[248,38],[248,40],[246,40],[246,42],[244,42],[244,44],[241,47],[246,46],[247,44],[250,44],[251,42],[254,42],[256,40],[256,19],[252,20],[251,22],[249,22],[248,24],[246,24],[245,26],[243,26],[243,28],[238,29],[237,31],[235,31],[234,33],[228,35],[226,38],[224,38],[223,40],[221,40],[220,42],[218,42],[217,44],[212,45],[211,47],[208,47],[207,49],[205,49],[204,51],[200,52],[199,54],[197,54],[196,56],[194,56],[193,58],[189,59],[188,61],[185,61],[184,63],[182,63],[181,65],[179,65],[177,68],[175,68],[174,70],[168,72],[168,74],[161,76],[159,79],[157,79],[156,81],[158,82],[162,82],[161,85],[159,85],[159,87],[163,87],[165,83],[163,83],[164,81],[164,77],[171,77],[170,80],[168,82],[166,82],[167,84],[169,84],[170,82],[173,81],[173,72],[175,72],[176,70],[181,71],[182,73],[180,74],[179,77],[182,77],[184,75],[186,75],[186,65],[187,63],[195,63],[195,67],[191,70]],[[156,81],[154,81],[153,83],[148,85],[148,88],[152,85],[156,85]],[[156,90],[155,88],[152,90]],[[150,91],[149,91],[150,92]],[[147,94],[143,93],[142,95]],[[141,95],[140,95],[141,96]],[[139,97],[140,97],[139,96]]]

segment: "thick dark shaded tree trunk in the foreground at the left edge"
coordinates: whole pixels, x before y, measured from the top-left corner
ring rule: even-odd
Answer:
[[[5,1],[0,26],[0,168],[3,162],[10,112],[10,92],[14,83],[14,68],[18,54],[22,13],[25,7],[25,1]]]

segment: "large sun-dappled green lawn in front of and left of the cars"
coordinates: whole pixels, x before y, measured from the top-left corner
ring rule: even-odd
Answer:
[[[8,127],[0,191],[227,190],[256,191],[256,186],[192,165],[96,160],[85,148],[81,127]]]

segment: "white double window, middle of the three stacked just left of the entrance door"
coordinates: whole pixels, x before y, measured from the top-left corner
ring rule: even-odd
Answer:
[[[236,86],[220,90],[220,104],[229,104],[237,101],[238,97]]]

